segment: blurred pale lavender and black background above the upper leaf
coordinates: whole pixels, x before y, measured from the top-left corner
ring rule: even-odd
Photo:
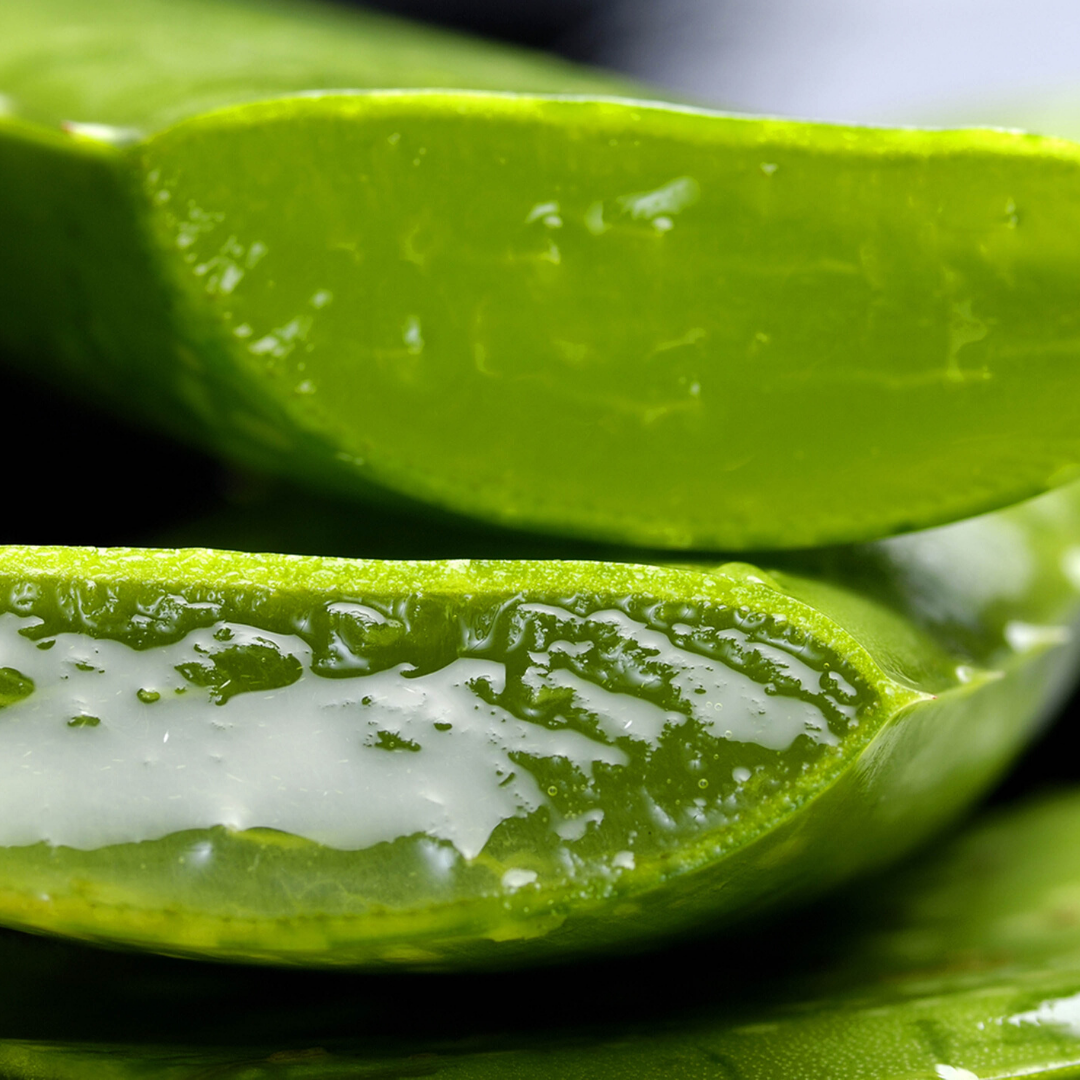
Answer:
[[[739,112],[1080,132],[1069,116],[1080,104],[1080,11],[1069,0],[377,0],[372,6],[600,65]]]

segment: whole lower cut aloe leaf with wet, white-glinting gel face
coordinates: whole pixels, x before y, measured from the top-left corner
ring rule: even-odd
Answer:
[[[435,968],[810,896],[956,814],[1061,692],[1078,515],[839,573],[5,549],[0,917]]]

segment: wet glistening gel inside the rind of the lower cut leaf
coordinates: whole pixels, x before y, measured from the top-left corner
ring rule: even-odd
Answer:
[[[21,689],[0,711],[0,845],[225,826],[347,851],[426,837],[454,862],[539,828],[552,854],[603,840],[627,863],[738,816],[870,700],[835,658],[707,613],[337,600],[297,633],[218,620],[148,648],[2,615]]]

